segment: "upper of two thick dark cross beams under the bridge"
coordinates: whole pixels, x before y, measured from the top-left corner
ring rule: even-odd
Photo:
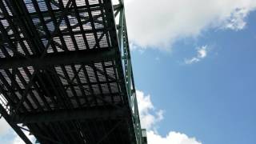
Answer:
[[[58,66],[74,63],[91,63],[114,60],[119,54],[115,48],[101,48],[94,50],[78,50],[68,52],[58,52],[46,54],[40,58],[40,55],[30,55],[24,57],[0,58],[0,69],[14,69],[18,67],[36,66]]]

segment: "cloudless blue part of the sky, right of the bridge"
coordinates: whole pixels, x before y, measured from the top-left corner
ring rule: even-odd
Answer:
[[[208,26],[164,49],[134,45],[137,89],[150,94],[154,110],[164,111],[156,135],[176,131],[203,144],[256,143],[255,18],[252,10],[241,29]],[[192,58],[199,60],[186,62]]]

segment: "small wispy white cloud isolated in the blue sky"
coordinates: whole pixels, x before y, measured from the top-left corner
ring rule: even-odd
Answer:
[[[186,64],[193,64],[196,62],[200,62],[203,58],[206,58],[208,53],[208,46],[202,46],[198,48],[198,54],[190,59],[185,59]]]

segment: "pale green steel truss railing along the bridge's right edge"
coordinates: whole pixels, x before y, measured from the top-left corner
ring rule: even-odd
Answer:
[[[134,75],[132,70],[131,58],[130,58],[130,45],[128,41],[128,34],[126,29],[126,15],[124,9],[124,3],[122,0],[118,1],[118,5],[114,5],[114,10],[116,13],[114,15],[116,21],[118,21],[117,30],[118,30],[118,42],[120,52],[122,54],[122,68],[126,81],[126,93],[130,102],[130,109],[132,111],[132,118],[134,122],[134,132],[136,135],[138,144],[146,144],[146,141],[142,139],[142,127],[140,124],[139,114],[138,114],[138,102],[136,98],[136,90],[134,86]],[[144,130],[146,133],[146,130]],[[145,136],[143,137],[146,138]]]

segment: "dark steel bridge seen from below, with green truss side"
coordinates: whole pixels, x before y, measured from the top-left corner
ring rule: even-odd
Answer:
[[[0,114],[28,144],[146,144],[122,0],[0,1]]]

